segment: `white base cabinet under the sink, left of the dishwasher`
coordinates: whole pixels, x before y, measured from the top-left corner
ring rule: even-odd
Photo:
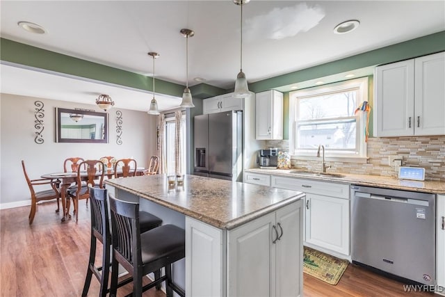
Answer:
[[[349,186],[272,176],[270,186],[306,193],[305,244],[350,255]]]

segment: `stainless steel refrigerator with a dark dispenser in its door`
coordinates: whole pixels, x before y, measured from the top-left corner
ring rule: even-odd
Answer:
[[[242,181],[243,112],[196,115],[194,175]]]

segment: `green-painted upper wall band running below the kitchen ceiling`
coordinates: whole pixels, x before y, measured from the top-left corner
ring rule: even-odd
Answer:
[[[396,61],[433,54],[438,51],[445,51],[445,31],[426,35],[421,38],[408,40],[382,47],[363,54],[357,54],[338,61],[309,67],[278,77],[264,79],[249,84],[249,89],[254,92],[262,92],[273,88],[291,85],[301,81],[318,79],[329,75],[357,70],[373,65],[394,63]],[[0,38],[0,59],[7,63],[15,63],[30,67],[41,68],[54,72],[70,74],[77,77],[106,81],[121,86],[141,90],[152,90],[152,77],[145,77],[141,74],[108,67],[98,63],[74,58],[54,51],[47,51],[38,47],[24,45],[5,38]],[[370,79],[370,92],[372,92],[372,77]],[[184,86],[177,83],[170,83],[156,79],[156,92],[181,97]],[[191,88],[193,97],[204,99],[232,90],[223,90],[214,86],[201,83]],[[372,99],[372,96],[370,96]],[[289,139],[289,93],[284,94],[284,137]],[[370,124],[371,125],[371,124]]]

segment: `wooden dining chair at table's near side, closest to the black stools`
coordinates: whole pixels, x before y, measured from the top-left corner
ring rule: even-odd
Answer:
[[[67,214],[70,212],[70,200],[73,200],[76,221],[79,219],[79,200],[90,198],[90,190],[88,186],[104,187],[104,163],[99,160],[87,160],[79,163],[79,167],[86,167],[85,172],[77,171],[76,187],[70,188],[68,191]],[[85,183],[82,183],[85,180]]]

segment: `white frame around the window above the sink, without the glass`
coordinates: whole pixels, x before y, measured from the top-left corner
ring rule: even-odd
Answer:
[[[303,90],[295,90],[289,93],[289,152],[294,159],[308,159],[316,160],[316,150],[297,150],[297,114],[298,114],[298,99],[307,97],[318,97],[330,93],[347,92],[348,90],[357,90],[357,102],[360,104],[364,101],[369,102],[369,78],[362,77],[359,79],[350,79],[348,81],[340,81],[338,83],[330,83],[324,86],[317,86],[314,88],[307,88]],[[358,106],[356,106],[357,108]],[[344,117],[338,117],[341,120]],[[350,118],[350,117],[348,117]],[[356,120],[356,149],[348,153],[346,151],[339,152],[339,150],[326,150],[325,159],[330,161],[350,161],[356,163],[366,163],[367,150],[364,135],[364,127],[366,127],[366,115],[364,112],[359,112],[355,115]],[[323,145],[323,143],[321,143]]]

